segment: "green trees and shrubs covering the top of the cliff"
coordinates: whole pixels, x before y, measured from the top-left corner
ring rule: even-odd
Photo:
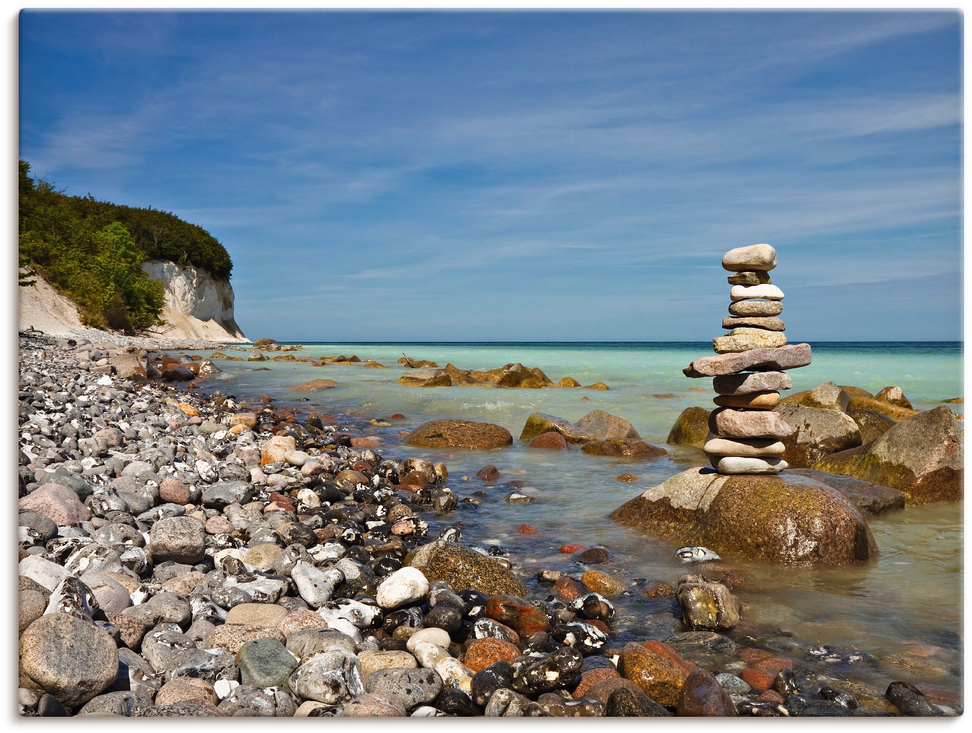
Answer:
[[[205,229],[156,209],[68,196],[31,178],[25,160],[19,168],[20,263],[74,299],[87,325],[131,333],[162,323],[162,286],[142,270],[146,260],[228,278],[229,255]]]

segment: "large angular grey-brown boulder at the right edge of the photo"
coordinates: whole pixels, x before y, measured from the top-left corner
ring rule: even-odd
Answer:
[[[959,501],[962,460],[955,415],[941,405],[902,420],[873,442],[832,453],[814,468],[890,486],[914,505]]]

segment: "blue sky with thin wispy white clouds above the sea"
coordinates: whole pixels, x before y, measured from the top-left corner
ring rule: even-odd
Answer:
[[[961,337],[957,13],[20,15],[20,157],[172,211],[251,338]]]

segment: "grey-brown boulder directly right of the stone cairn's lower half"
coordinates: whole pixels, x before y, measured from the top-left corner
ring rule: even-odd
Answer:
[[[810,468],[824,456],[861,444],[857,423],[836,408],[786,403],[778,404],[774,412],[793,429],[781,441],[786,446],[783,460],[794,468]]]

